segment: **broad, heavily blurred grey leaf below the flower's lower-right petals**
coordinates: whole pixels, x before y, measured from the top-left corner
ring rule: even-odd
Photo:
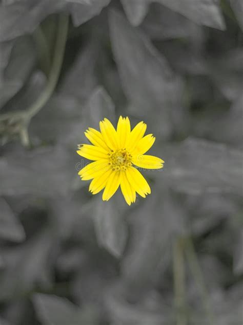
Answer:
[[[172,193],[157,184],[129,219],[132,238],[122,262],[122,274],[128,295],[138,299],[157,284],[168,267],[173,238],[185,234],[185,215]]]

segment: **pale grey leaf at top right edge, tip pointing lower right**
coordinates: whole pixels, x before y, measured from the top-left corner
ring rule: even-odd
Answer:
[[[224,17],[219,9],[218,0],[157,0],[159,3],[177,11],[196,24],[226,29]]]

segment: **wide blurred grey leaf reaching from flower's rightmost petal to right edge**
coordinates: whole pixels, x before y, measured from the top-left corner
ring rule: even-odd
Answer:
[[[243,194],[242,151],[193,138],[172,148],[165,148],[165,167],[158,175],[173,189],[190,194]]]

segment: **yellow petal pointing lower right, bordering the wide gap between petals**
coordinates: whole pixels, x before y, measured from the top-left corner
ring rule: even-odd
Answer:
[[[134,190],[141,196],[145,197],[151,193],[151,189],[144,176],[134,167],[127,169],[127,177],[129,183],[133,186]]]

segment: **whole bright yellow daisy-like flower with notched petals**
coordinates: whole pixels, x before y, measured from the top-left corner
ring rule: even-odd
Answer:
[[[163,167],[164,160],[145,155],[155,137],[144,136],[147,125],[139,122],[131,131],[129,118],[120,116],[117,128],[105,118],[99,122],[100,132],[89,128],[85,135],[92,145],[78,145],[77,153],[93,163],[79,171],[83,180],[92,179],[89,191],[97,194],[103,189],[103,200],[108,201],[118,187],[128,205],[136,200],[136,193],[146,197],[151,193],[144,176],[133,165],[146,169]]]

